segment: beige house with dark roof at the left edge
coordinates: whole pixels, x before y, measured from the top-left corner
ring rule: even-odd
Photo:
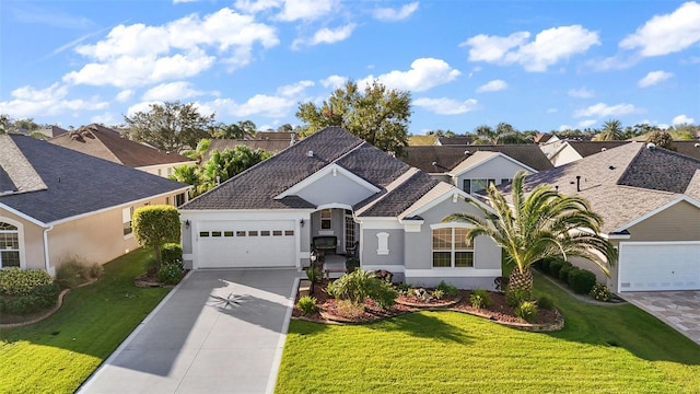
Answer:
[[[0,135],[0,267],[106,263],[136,247],[133,209],[188,185],[19,135]]]

